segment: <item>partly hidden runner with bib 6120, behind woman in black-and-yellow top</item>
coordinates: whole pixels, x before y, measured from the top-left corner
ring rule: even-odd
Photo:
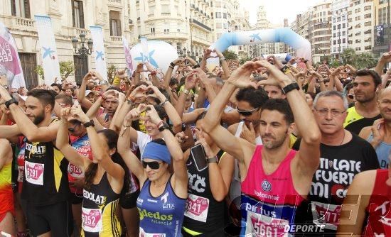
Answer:
[[[87,130],[77,119],[68,121],[68,133],[70,144],[85,158],[92,160],[90,139],[88,139]],[[68,164],[68,182],[70,188],[70,202],[72,204],[73,220],[76,229],[81,231],[82,227],[82,190],[84,186],[84,172],[82,169],[69,162]]]

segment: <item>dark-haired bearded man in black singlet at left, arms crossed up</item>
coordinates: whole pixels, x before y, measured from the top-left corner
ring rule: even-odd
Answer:
[[[23,134],[26,138],[21,198],[31,233],[33,236],[70,236],[73,224],[68,204],[68,161],[54,144],[59,127],[59,122],[51,117],[54,92],[45,89],[28,92],[26,111],[1,86],[0,97],[16,122],[13,126],[0,126],[0,137]]]

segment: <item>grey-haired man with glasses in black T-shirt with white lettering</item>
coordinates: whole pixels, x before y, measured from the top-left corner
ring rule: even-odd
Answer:
[[[322,135],[321,162],[295,220],[296,224],[323,225],[322,233],[333,235],[353,177],[379,167],[372,146],[343,128],[347,109],[348,101],[340,92],[321,92],[314,100],[314,116]],[[294,146],[298,149],[299,145],[300,140]]]

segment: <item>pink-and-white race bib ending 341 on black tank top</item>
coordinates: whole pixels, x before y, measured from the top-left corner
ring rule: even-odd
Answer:
[[[185,207],[185,216],[195,221],[206,222],[206,218],[208,217],[209,199],[194,194],[188,194]]]

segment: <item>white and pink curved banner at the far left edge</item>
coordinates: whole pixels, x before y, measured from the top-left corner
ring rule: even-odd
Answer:
[[[15,40],[0,22],[0,76],[3,75],[6,76],[9,87],[26,87]]]

